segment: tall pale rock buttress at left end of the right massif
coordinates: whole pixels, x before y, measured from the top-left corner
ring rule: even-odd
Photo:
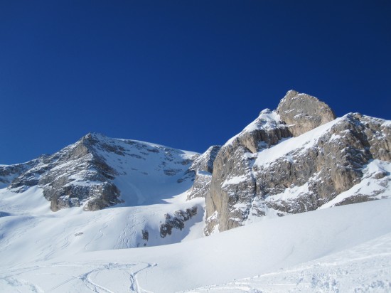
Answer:
[[[210,192],[206,195],[206,235],[214,230],[216,219],[222,231],[240,225],[240,219],[245,218],[257,191],[255,177],[252,175],[253,154],[287,137],[291,137],[291,134],[277,112],[266,109],[220,149],[213,165]],[[241,209],[232,209],[237,202],[247,207],[244,213]],[[215,211],[218,211],[218,215],[215,215]]]

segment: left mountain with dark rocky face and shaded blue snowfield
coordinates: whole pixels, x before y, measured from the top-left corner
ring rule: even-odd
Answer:
[[[143,203],[136,181],[147,181],[144,186],[156,184],[159,192],[159,184],[167,178],[186,191],[190,186],[186,181],[194,179],[186,171],[197,156],[166,146],[87,134],[51,156],[0,167],[0,178],[8,179],[6,185],[14,192],[41,187],[52,211],[75,206],[97,211],[124,201],[129,205]],[[117,184],[123,181],[127,185],[121,190]],[[132,194],[124,194],[129,191]]]

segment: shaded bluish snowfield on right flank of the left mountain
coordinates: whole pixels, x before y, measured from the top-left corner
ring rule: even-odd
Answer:
[[[186,164],[183,164],[183,161],[198,155],[193,151],[103,136],[100,137],[100,142],[117,146],[126,154],[122,156],[113,151],[97,149],[97,153],[119,174],[113,180],[121,191],[121,199],[124,200],[119,206],[161,203],[192,186],[192,181],[177,181],[183,177],[191,164],[191,161]],[[172,171],[172,174],[167,175],[167,171]]]

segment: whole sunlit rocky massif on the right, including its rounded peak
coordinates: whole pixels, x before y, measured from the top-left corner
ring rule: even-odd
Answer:
[[[216,156],[205,235],[262,215],[313,211],[390,196],[391,122],[335,119],[315,97],[289,91]],[[365,191],[363,184],[377,184]],[[360,185],[361,184],[361,185]]]

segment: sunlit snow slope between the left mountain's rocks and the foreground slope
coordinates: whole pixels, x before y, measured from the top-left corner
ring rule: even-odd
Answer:
[[[95,212],[85,212],[77,207],[53,213],[40,188],[11,195],[9,191],[0,190],[1,262],[15,265],[48,260],[55,255],[180,242],[192,237],[190,229],[195,223],[200,223],[198,230],[203,229],[203,200],[186,201],[186,197],[187,193],[183,193],[168,199],[165,204],[149,206]],[[161,225],[167,214],[193,207],[198,209],[197,215],[186,221],[181,230],[173,228],[171,235],[161,237]],[[148,239],[143,231],[148,233]],[[199,237],[200,231],[193,233]]]

